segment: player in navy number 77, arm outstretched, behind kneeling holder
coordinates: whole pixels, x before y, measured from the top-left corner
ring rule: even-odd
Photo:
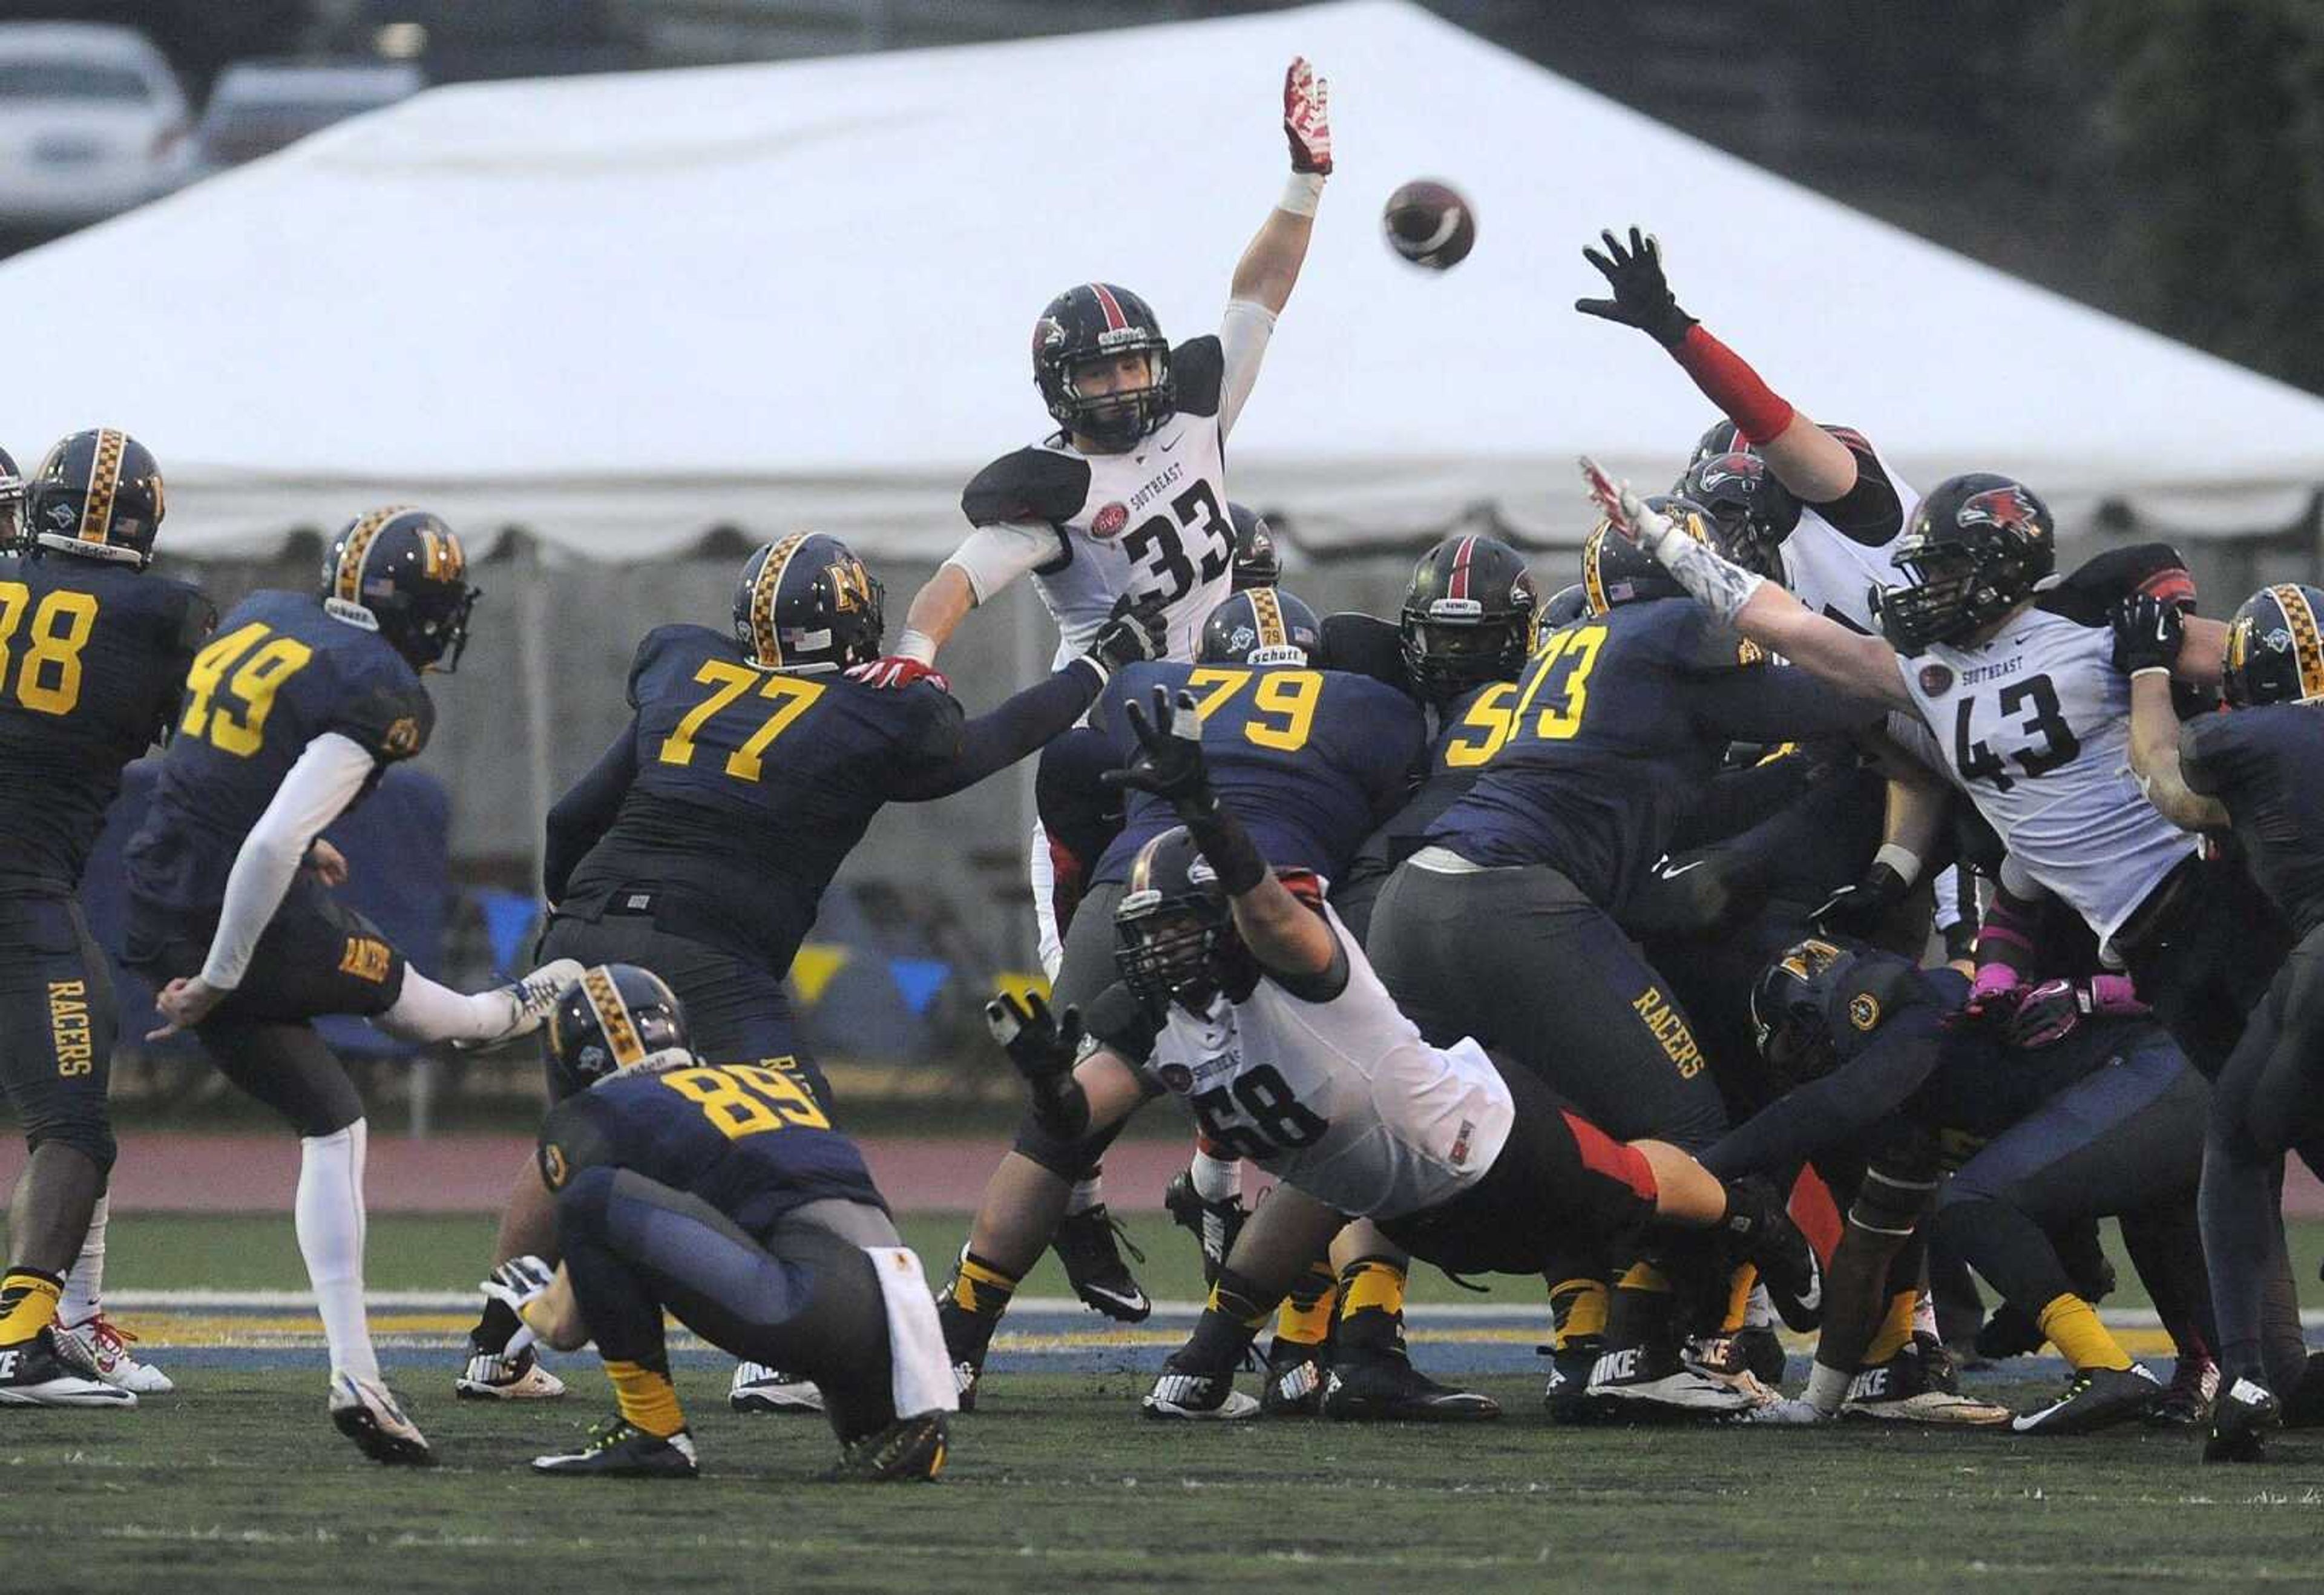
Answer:
[[[1160,646],[1153,616],[1099,625],[1088,651],[992,714],[962,716],[944,677],[881,691],[885,609],[862,560],[795,532],[744,560],[734,623],[660,625],[630,667],[630,725],[548,811],[546,958],[639,963],[688,1004],[709,1058],[790,1058],[827,1100],[792,1035],[783,977],[841,860],[890,802],[927,802],[1013,765],[1083,716],[1106,677]],[[572,1077],[548,1074],[551,1093]],[[553,1256],[553,1211],[530,1172],[511,1190],[495,1265]],[[744,1407],[813,1393],[741,1369]],[[560,1383],[486,1302],[460,1395],[553,1397]]]

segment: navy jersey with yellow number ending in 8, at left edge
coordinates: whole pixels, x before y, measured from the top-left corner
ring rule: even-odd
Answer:
[[[128,565],[0,558],[0,874],[81,879],[214,618],[200,591]]]

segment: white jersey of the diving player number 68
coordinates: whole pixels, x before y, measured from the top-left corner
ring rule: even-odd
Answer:
[[[1422,1042],[1325,914],[1348,951],[1336,997],[1306,1002],[1262,979],[1204,1018],[1171,1004],[1146,1067],[1213,1146],[1343,1214],[1399,1218],[1483,1179],[1515,1104],[1483,1046]]]

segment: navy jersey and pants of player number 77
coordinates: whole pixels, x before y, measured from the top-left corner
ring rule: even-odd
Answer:
[[[974,786],[1095,691],[1069,665],[967,721],[934,681],[769,672],[725,632],[655,628],[627,730],[548,814],[541,956],[653,970],[713,1058],[795,1056],[783,974],[871,816]]]

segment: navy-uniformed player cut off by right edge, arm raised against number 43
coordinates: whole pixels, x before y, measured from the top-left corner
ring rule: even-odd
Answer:
[[[2185,644],[2178,609],[2126,598],[2115,616],[2115,663],[2131,677],[2131,770],[2187,830],[2231,830],[2252,874],[2291,921],[2298,944],[2273,972],[2219,1072],[2203,1149],[2203,1256],[2226,1388],[2203,1458],[2257,1460],[2282,1421],[2275,1395],[2303,1365],[2261,1356],[2264,1297],[2289,1281],[2280,1204],[2282,1158],[2324,1144],[2315,1081],[2324,1000],[2324,809],[2317,795],[2315,702],[2324,700],[2324,591],[2268,586],[2236,609],[2226,632],[2229,714],[2180,725],[2171,672]],[[2289,1390],[2287,1390],[2289,1393]]]

